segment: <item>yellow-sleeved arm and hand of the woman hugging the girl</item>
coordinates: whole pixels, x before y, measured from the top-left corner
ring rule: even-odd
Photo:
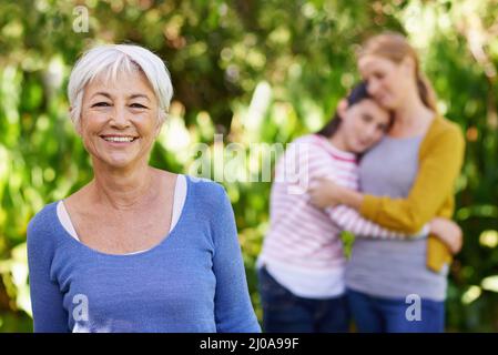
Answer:
[[[409,234],[418,232],[436,216],[449,219],[453,189],[461,168],[465,144],[456,125],[440,121],[435,122],[436,126],[424,139],[419,171],[406,199],[362,194],[322,180],[309,191],[313,203],[321,207],[345,204],[373,222]],[[437,219],[431,223],[433,233],[444,230],[441,222]],[[456,225],[448,227],[456,231]]]

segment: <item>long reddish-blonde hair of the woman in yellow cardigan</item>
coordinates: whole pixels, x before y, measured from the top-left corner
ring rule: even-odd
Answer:
[[[415,63],[415,80],[421,102],[434,112],[437,112],[437,99],[433,85],[420,70],[417,52],[408,40],[396,32],[385,32],[369,38],[358,52],[358,58],[378,55],[395,63],[402,62],[407,55]]]

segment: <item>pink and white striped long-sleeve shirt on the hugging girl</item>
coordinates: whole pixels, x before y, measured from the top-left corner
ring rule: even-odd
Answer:
[[[358,190],[355,154],[334,148],[326,138],[317,134],[302,136],[288,146],[275,168],[270,227],[258,260],[258,264],[265,264],[284,286],[303,296],[314,295],[309,285],[302,284],[303,275],[315,277],[317,282],[319,275],[323,275],[323,282],[329,282],[331,275],[342,277],[345,256],[341,231],[368,237],[407,237],[363,219],[347,206],[316,209],[309,202],[307,189],[317,178]],[[302,275],[301,281],[293,277],[293,273]],[[343,290],[342,283],[337,280],[334,286],[331,285],[334,290],[322,290],[316,295],[338,294]]]

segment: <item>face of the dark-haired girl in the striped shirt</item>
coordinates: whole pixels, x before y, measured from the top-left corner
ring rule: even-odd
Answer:
[[[363,153],[376,144],[389,126],[389,113],[374,100],[364,99],[339,111],[342,122],[336,134],[341,134],[344,148],[353,153]]]

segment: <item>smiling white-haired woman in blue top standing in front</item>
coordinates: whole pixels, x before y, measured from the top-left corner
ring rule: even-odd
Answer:
[[[68,91],[94,178],[29,224],[34,331],[260,332],[225,191],[149,165],[173,93],[162,60],[100,45]]]

